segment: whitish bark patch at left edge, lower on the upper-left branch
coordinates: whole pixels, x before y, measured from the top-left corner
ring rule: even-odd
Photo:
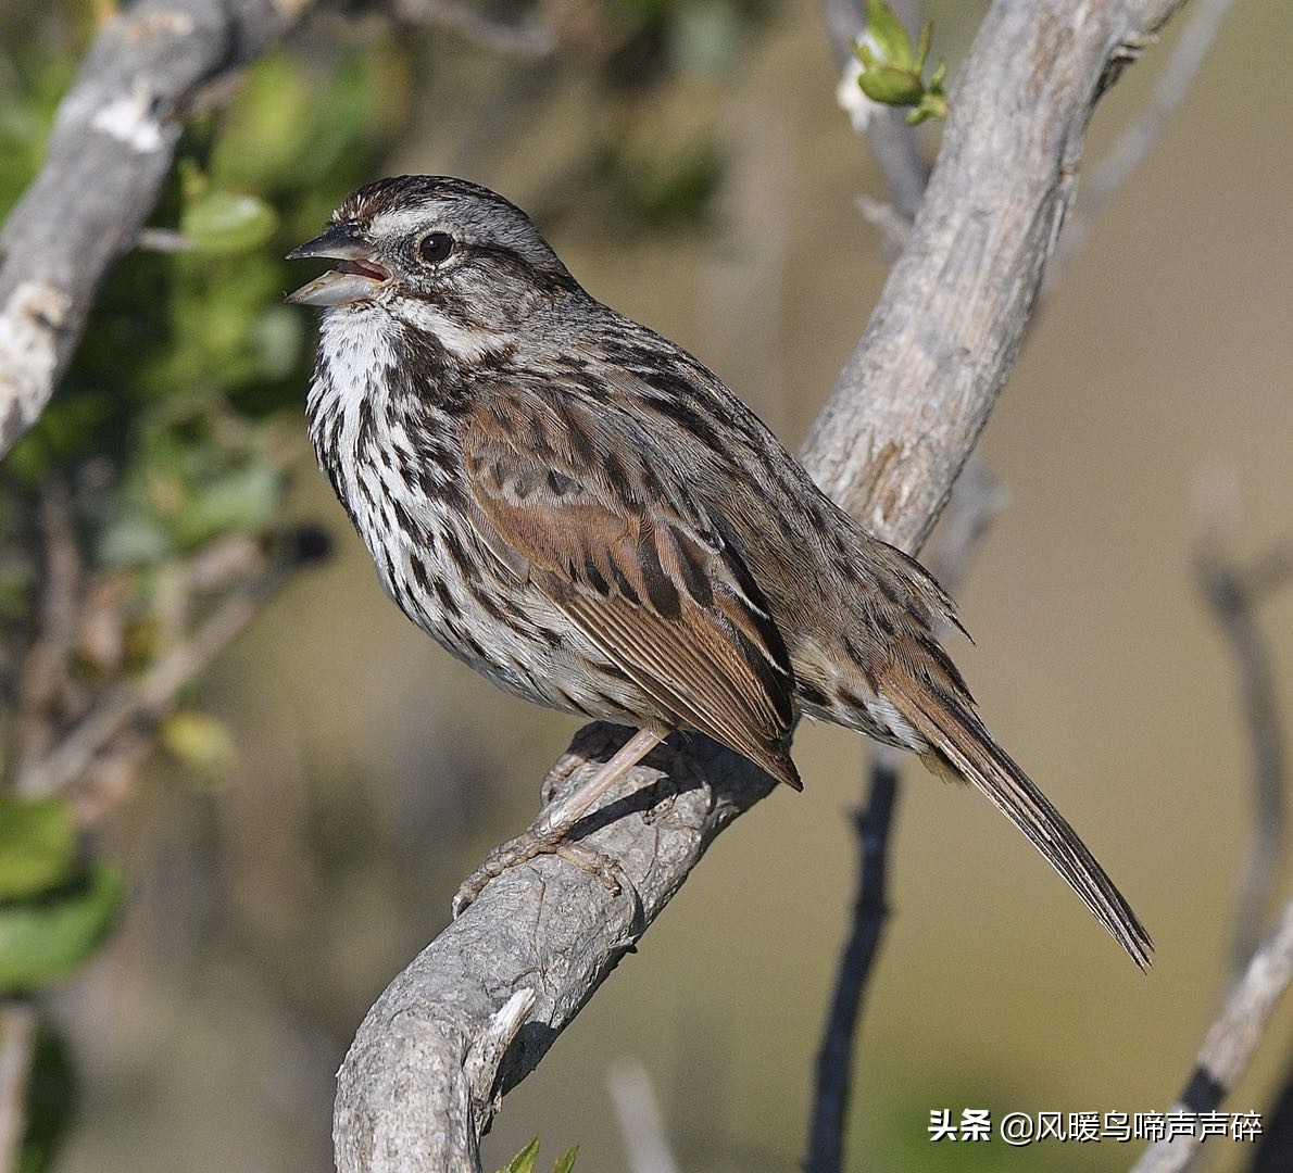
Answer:
[[[58,332],[71,298],[23,282],[0,310],[0,435],[5,444],[35,422],[53,391]]]

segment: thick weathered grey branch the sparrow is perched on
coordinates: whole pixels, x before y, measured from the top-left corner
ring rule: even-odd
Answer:
[[[1091,109],[1181,0],[997,0],[952,98],[943,150],[881,302],[803,452],[873,532],[918,548],[987,422],[1073,195]],[[557,789],[596,769],[577,735]],[[657,753],[586,822],[630,881],[561,859],[494,881],[369,1012],[339,1072],[341,1173],[475,1173],[497,1097],[543,1058],[733,818],[771,780],[705,739]],[[672,771],[672,775],[670,775]],[[662,798],[662,807],[644,818]],[[491,1088],[464,1062],[520,990],[534,1009]]]

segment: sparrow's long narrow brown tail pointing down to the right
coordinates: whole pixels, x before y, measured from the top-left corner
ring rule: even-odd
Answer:
[[[930,771],[970,782],[983,791],[1032,840],[1131,960],[1148,969],[1153,942],[1144,925],[1068,820],[992,739],[968,694],[963,699],[957,696],[961,689],[950,680],[944,690],[913,678],[909,672],[887,676],[886,695],[934,747],[921,754]]]

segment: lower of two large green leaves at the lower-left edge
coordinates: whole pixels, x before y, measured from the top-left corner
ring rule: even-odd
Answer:
[[[102,864],[36,899],[0,904],[0,992],[48,986],[79,969],[107,937],[124,884]]]

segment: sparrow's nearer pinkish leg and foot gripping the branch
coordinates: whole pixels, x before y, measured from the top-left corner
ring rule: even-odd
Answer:
[[[663,739],[646,729],[635,732],[623,747],[586,783],[564,798],[548,804],[530,828],[516,838],[495,847],[458,889],[454,897],[454,917],[462,915],[485,885],[508,868],[526,863],[537,855],[560,854],[588,872],[596,872],[618,890],[618,881],[610,875],[604,856],[566,841],[566,835],[621,778],[652,752]]]

